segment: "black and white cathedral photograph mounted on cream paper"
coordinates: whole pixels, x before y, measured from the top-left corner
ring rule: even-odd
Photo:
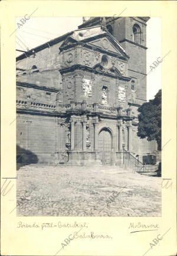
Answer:
[[[160,217],[160,17],[16,22],[17,216]]]

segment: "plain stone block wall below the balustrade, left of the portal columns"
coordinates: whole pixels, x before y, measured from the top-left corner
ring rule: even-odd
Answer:
[[[35,163],[54,161],[55,135],[55,118],[18,114],[17,155],[22,155],[22,163],[28,163],[31,157]]]

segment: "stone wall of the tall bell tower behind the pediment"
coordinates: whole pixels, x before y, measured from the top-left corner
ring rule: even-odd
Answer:
[[[146,101],[146,48],[131,43],[133,41],[132,28],[134,24],[140,26],[142,32],[141,46],[146,47],[146,22],[138,17],[118,18],[114,22],[114,37],[121,42],[130,57],[128,61],[128,76],[135,80],[136,103],[142,104]]]

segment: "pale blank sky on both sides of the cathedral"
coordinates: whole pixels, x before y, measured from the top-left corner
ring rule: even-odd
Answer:
[[[17,23],[21,18],[17,18]],[[76,30],[83,23],[82,17],[56,17],[56,18],[30,18],[16,31],[16,49],[27,51],[28,49],[46,43],[60,35]],[[18,25],[17,25],[18,27]],[[150,71],[153,62],[161,56],[161,20],[160,17],[151,17],[147,22],[147,100],[153,99],[161,88],[161,65]],[[17,56],[21,52],[16,51]],[[159,59],[159,60],[160,60]]]

